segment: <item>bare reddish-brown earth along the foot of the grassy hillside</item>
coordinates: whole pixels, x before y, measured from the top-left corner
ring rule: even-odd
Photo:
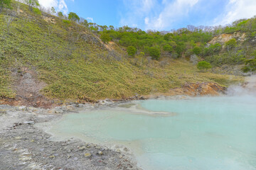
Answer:
[[[33,81],[33,80],[32,80]],[[19,91],[24,89],[19,87]],[[168,92],[163,94],[150,94],[150,95],[139,95],[129,98],[122,99],[112,99],[112,101],[129,101],[129,100],[145,100],[148,98],[155,98],[157,96],[176,96],[176,95],[186,95],[186,96],[218,96],[220,94],[225,94],[227,88],[220,86],[213,82],[206,83],[197,83],[197,84],[185,84],[180,88],[170,89]],[[89,103],[100,103],[100,101],[91,101]],[[16,98],[2,98],[0,99],[0,104],[10,105],[10,106],[32,106],[35,108],[53,108],[56,106],[68,105],[68,104],[78,104],[78,103],[88,103],[87,101],[59,101],[59,100],[50,100],[39,93],[37,89],[36,92],[27,92],[23,96],[17,95]]]

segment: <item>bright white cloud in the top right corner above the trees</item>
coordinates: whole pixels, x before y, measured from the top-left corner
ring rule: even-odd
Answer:
[[[213,25],[226,25],[242,18],[256,15],[255,0],[229,0],[223,14],[215,18]]]

